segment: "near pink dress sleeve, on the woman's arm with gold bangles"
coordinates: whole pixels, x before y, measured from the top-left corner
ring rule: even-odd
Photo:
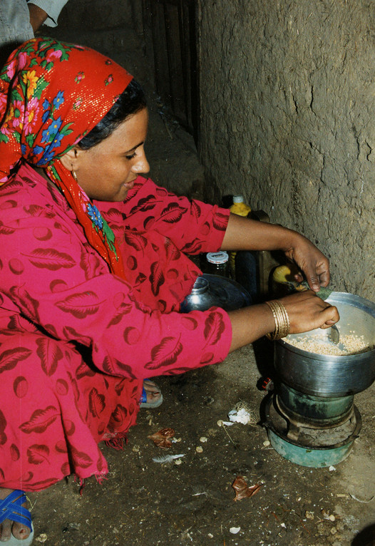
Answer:
[[[7,311],[1,329],[21,324],[20,347],[21,331],[32,327],[48,333],[50,345],[41,351],[54,361],[63,355],[53,339],[63,339],[91,348],[98,369],[129,378],[180,374],[225,359],[232,336],[225,311],[148,307],[108,272],[79,225],[43,203],[30,205],[29,197],[24,202],[1,222],[0,302]]]

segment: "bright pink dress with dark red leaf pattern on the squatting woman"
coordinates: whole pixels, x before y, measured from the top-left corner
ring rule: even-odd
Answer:
[[[106,475],[98,448],[135,424],[142,380],[227,356],[222,309],[180,314],[220,248],[228,212],[138,177],[123,203],[96,202],[126,281],[88,244],[65,198],[29,165],[0,187],[0,486],[41,490]]]

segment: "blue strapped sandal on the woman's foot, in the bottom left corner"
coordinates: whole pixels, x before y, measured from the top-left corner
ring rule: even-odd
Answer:
[[[0,523],[4,520],[16,521],[21,525],[26,525],[31,530],[29,537],[20,540],[12,534],[6,542],[1,542],[6,546],[29,546],[33,542],[34,529],[31,523],[31,514],[27,508],[21,506],[26,503],[26,495],[24,491],[15,489],[4,499],[0,500]]]

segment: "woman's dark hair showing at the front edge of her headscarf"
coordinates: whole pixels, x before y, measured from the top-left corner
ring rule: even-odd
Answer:
[[[115,101],[111,110],[108,110],[104,118],[78,142],[78,146],[82,148],[82,150],[93,148],[93,146],[96,146],[101,143],[102,140],[110,136],[115,128],[125,121],[129,115],[143,110],[145,106],[146,98],[143,88],[138,81],[130,81],[127,88],[125,88],[117,101]]]

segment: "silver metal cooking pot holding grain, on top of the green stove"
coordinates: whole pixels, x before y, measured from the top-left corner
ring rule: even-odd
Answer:
[[[339,397],[359,393],[375,380],[375,304],[369,300],[332,292],[327,299],[339,310],[340,336],[354,333],[364,336],[373,349],[360,354],[331,356],[298,349],[285,339],[275,344],[275,368],[287,385],[312,396]],[[317,329],[292,338],[327,339],[329,330]]]

